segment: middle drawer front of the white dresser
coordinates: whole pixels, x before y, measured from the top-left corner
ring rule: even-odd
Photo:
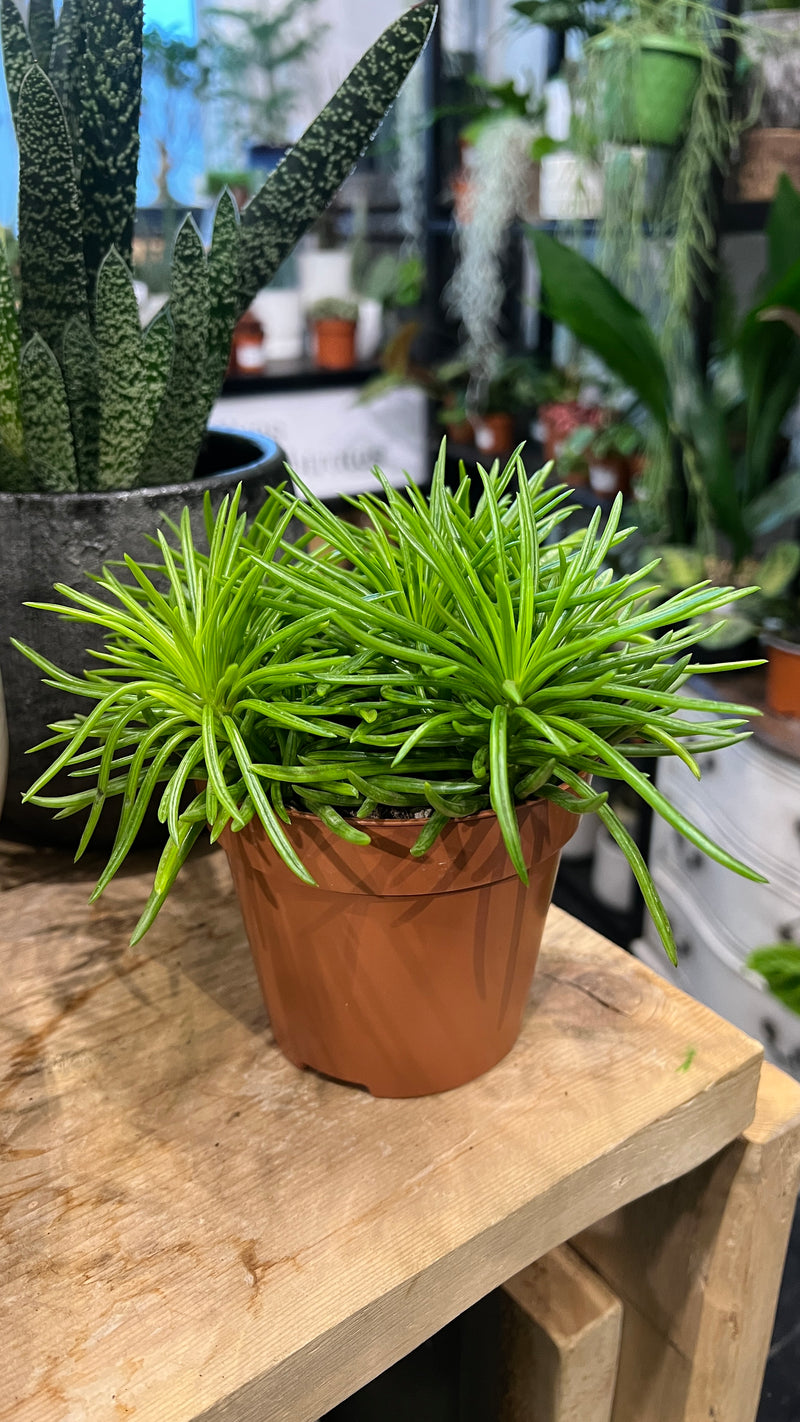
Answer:
[[[656,882],[666,870],[681,897],[716,926],[720,941],[740,961],[766,943],[800,943],[800,879],[786,870],[776,872],[753,856],[753,866],[770,875],[770,882],[742,879],[662,820],[654,823],[649,859]]]

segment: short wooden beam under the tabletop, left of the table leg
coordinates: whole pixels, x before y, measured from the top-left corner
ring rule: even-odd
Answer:
[[[496,1422],[611,1422],[622,1305],[568,1244],[503,1288]]]

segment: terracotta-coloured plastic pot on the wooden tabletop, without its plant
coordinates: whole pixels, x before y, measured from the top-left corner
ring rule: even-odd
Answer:
[[[480,1076],[521,1027],[558,853],[574,816],[520,806],[530,883],[496,816],[452,820],[423,859],[419,820],[365,822],[348,845],[296,813],[291,840],[317,887],[298,880],[257,820],[222,838],[273,1032],[297,1066],[423,1096]]]

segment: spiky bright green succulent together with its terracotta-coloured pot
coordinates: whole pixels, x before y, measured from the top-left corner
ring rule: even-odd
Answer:
[[[479,475],[477,499],[463,466],[449,489],[442,448],[429,496],[381,476],[382,498],[354,501],[362,526],[308,489],[271,491],[247,532],[234,496],[206,509],[207,552],[186,513],[172,540],[158,535],[153,565],[126,559],[125,582],[107,567],[97,597],[58,589],[50,611],[101,629],[108,660],[75,680],[27,651],[84,708],[55,728],[30,798],[88,813],[82,852],[122,796],[95,896],[155,798],[169,840],[138,940],[210,826],[279,1044],[378,1095],[455,1086],[512,1048],[575,813],[608,828],[675,956],[594,774],[759,877],[637,764],[679,755],[696,769],[698,752],[742,737],[740,707],[681,693],[691,619],[736,594],[701,586],[654,609],[651,570],[607,572],[627,538],[621,499],[602,532],[597,512],[560,536],[568,491],[520,458]],[[284,540],[291,518],[307,540]],[[698,731],[689,705],[718,720]],[[61,769],[75,789],[50,795]]]

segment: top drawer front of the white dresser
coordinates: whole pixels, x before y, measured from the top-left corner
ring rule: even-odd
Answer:
[[[701,758],[702,781],[672,758],[658,786],[678,809],[783,892],[800,899],[800,768],[755,741]]]

